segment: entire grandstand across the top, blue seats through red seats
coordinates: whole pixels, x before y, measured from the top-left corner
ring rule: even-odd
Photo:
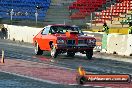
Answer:
[[[12,9],[13,23],[21,25],[35,25],[36,12],[42,26],[92,23],[98,28],[107,22],[111,27],[128,27],[132,21],[131,0],[1,0],[2,23],[10,23]]]

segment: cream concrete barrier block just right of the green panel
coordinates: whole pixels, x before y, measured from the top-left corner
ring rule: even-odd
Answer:
[[[107,39],[107,53],[124,54],[127,49],[126,35],[109,34]]]

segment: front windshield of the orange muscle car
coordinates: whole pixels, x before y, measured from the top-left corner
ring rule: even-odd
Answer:
[[[66,32],[70,31],[76,31],[78,33],[82,33],[81,29],[71,27],[71,26],[51,26],[51,33],[60,33],[60,34],[65,34]]]

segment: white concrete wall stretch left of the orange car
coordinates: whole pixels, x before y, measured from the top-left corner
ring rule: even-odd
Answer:
[[[29,42],[29,43],[32,43],[33,37],[43,29],[43,28],[33,28],[27,26],[6,25],[6,24],[4,24],[4,26],[8,30],[8,39]]]

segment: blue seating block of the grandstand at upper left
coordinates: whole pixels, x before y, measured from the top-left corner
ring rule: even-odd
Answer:
[[[35,13],[38,13],[38,21],[44,21],[47,9],[51,0],[1,0],[1,19],[13,21],[35,20]],[[11,15],[12,14],[12,15]]]

